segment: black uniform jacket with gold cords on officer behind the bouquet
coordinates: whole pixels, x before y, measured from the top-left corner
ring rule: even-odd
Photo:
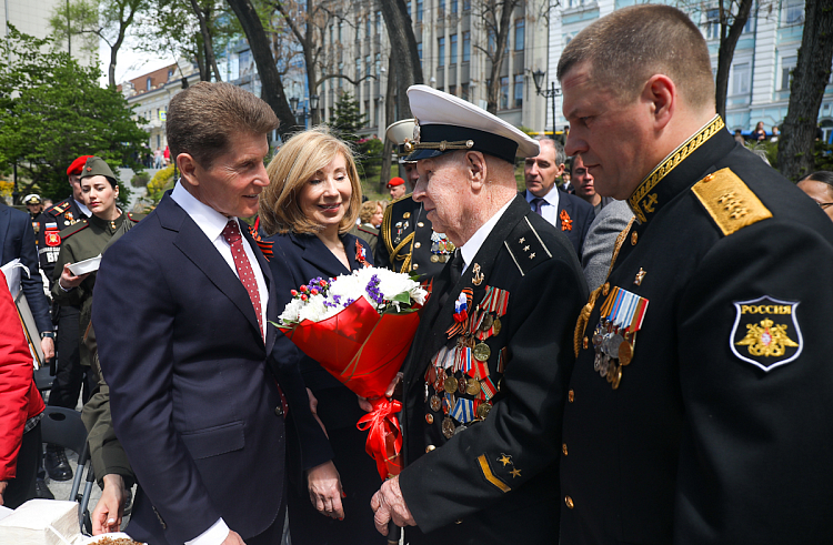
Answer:
[[[431,261],[431,222],[422,204],[409,193],[384,209],[379,228],[375,262],[395,272],[415,273],[421,280],[436,276],[445,261]],[[393,256],[393,258],[391,258]]]

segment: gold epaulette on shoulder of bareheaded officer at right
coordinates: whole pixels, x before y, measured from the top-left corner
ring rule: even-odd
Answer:
[[[709,174],[691,190],[725,236],[772,218],[772,212],[731,169]]]

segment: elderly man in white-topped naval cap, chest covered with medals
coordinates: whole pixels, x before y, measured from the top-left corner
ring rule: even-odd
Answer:
[[[538,142],[425,85],[414,199],[459,246],[403,366],[405,467],[373,497],[411,544],[556,539],[562,412],[588,290],[570,241],[518,195]],[[450,123],[450,124],[445,124]]]

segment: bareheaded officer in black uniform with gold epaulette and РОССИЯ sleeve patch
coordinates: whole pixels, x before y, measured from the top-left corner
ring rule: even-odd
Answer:
[[[561,543],[830,543],[833,224],[726,131],[683,12],[614,11],[558,77],[636,216],[576,329]]]

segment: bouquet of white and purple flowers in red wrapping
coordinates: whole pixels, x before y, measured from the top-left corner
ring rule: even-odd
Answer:
[[[364,268],[337,279],[312,279],[292,290],[278,327],[373,411],[357,424],[382,478],[401,471],[398,401],[384,396],[402,366],[428,292],[413,277]]]

